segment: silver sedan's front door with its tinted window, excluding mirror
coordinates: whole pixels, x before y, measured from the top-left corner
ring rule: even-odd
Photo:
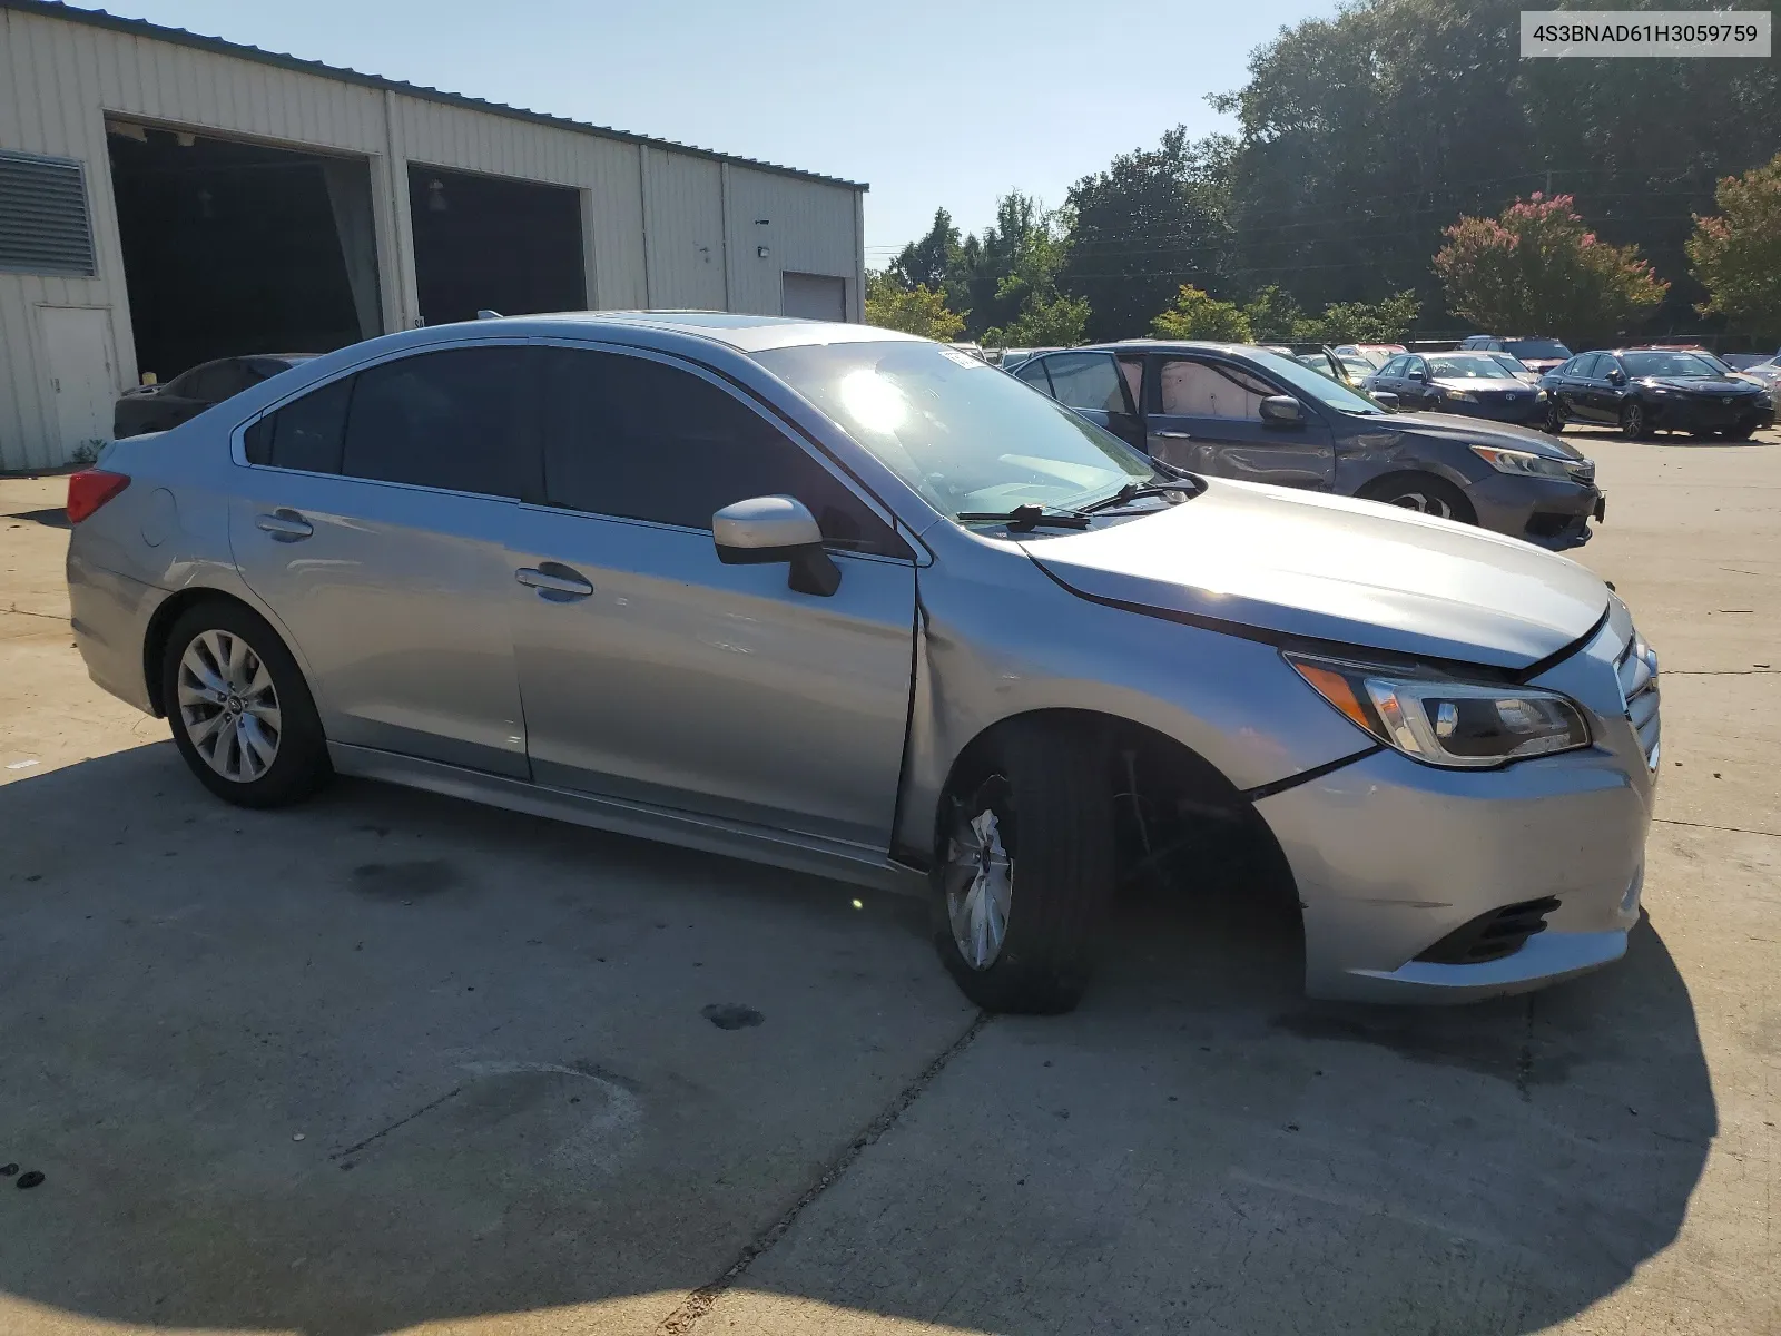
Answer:
[[[547,358],[541,493],[508,574],[533,778],[883,850],[910,704],[915,563],[874,506],[703,371]],[[793,495],[841,586],[723,565],[711,517]]]

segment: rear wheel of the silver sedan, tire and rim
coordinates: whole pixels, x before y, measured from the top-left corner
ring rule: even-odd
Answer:
[[[185,764],[232,803],[281,807],[333,773],[303,672],[265,618],[237,602],[207,600],[173,623],[160,702]]]

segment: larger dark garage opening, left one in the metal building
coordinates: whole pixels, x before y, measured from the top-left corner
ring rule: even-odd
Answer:
[[[383,331],[370,166],[107,121],[135,363],[326,353]]]

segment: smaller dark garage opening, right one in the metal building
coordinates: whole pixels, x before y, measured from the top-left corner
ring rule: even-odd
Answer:
[[[427,324],[588,305],[579,191],[411,162],[408,208]]]

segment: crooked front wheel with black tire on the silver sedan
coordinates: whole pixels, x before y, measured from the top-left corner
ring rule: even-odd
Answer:
[[[1012,723],[942,800],[933,944],[987,1012],[1081,1001],[1113,891],[1113,784],[1095,723]]]

